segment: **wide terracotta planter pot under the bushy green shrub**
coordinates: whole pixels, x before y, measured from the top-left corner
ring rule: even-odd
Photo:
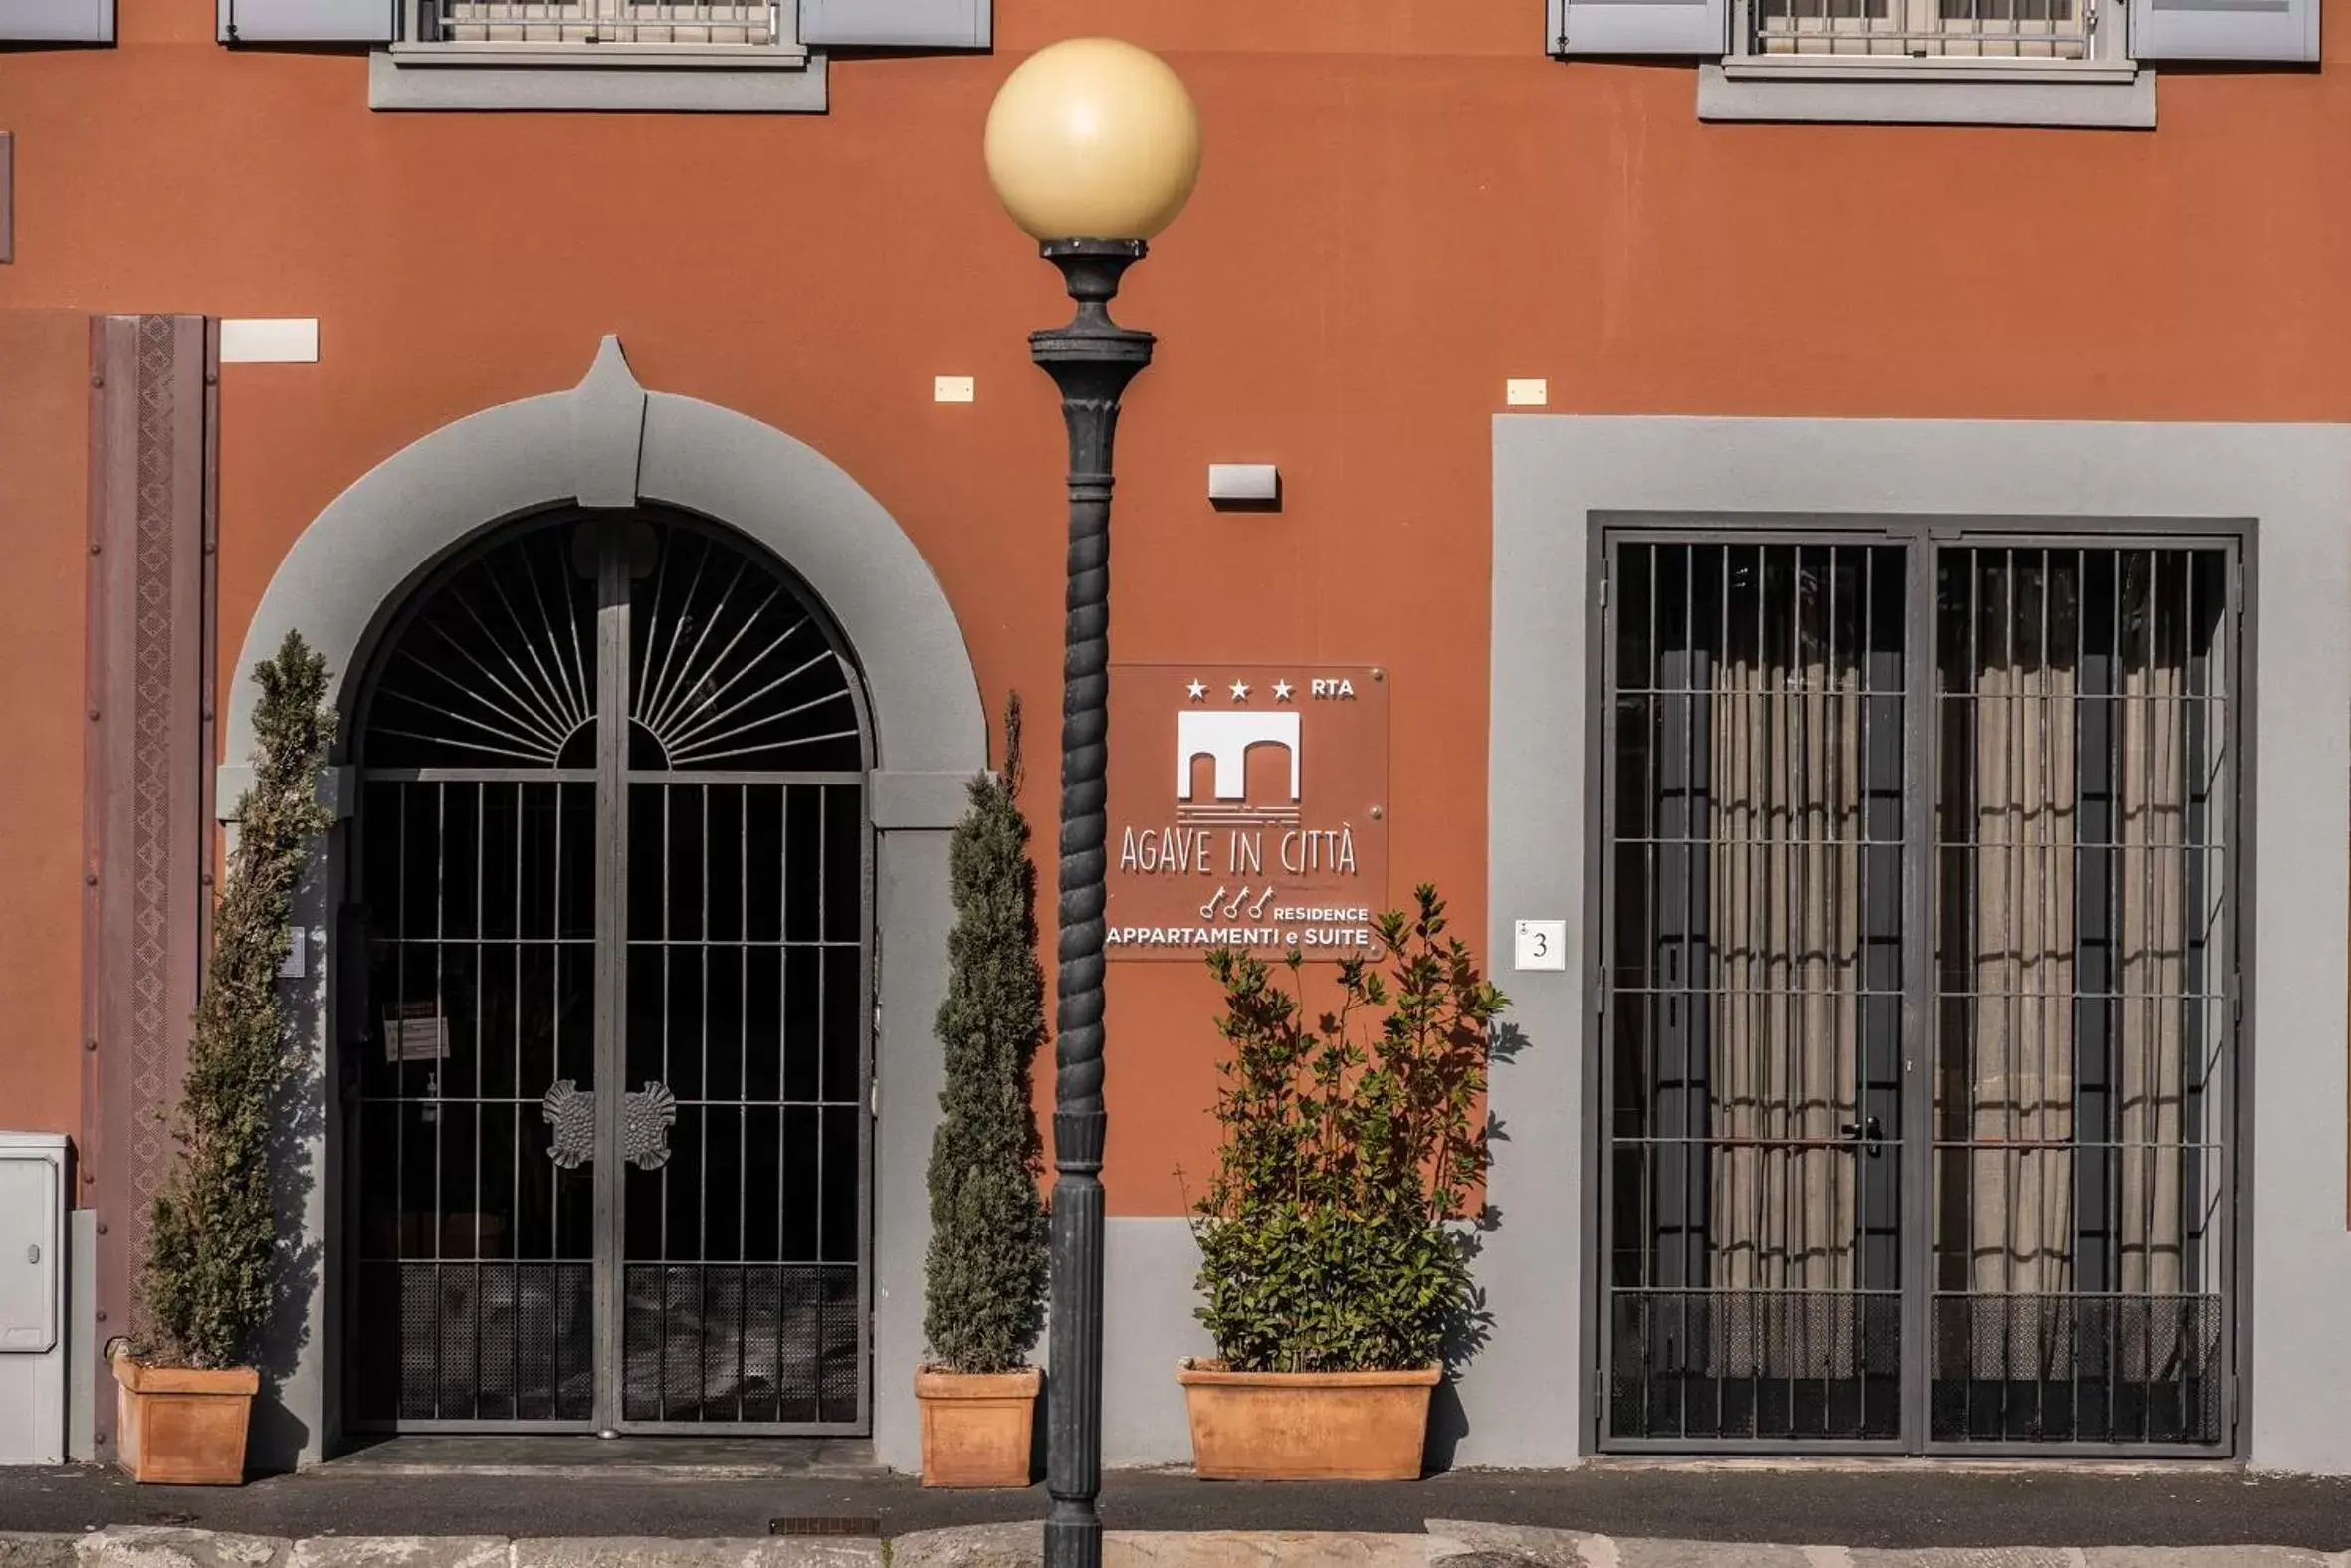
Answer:
[[[1418,1481],[1429,1394],[1413,1373],[1176,1368],[1192,1413],[1192,1469],[1208,1481]]]

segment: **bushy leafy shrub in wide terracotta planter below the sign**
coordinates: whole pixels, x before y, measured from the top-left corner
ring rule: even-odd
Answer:
[[[1413,898],[1378,922],[1387,973],[1342,959],[1338,1006],[1314,1023],[1298,952],[1281,978],[1208,954],[1230,1060],[1192,1234],[1218,1356],[1178,1368],[1201,1476],[1420,1476],[1446,1338],[1472,1307],[1448,1220],[1486,1175],[1486,1034],[1505,997],[1446,936],[1436,889]]]

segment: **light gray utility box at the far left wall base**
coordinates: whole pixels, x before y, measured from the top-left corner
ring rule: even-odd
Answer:
[[[0,1133],[0,1465],[66,1462],[66,1135]]]

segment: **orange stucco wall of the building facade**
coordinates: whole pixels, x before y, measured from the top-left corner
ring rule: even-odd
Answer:
[[[320,317],[320,364],[223,374],[223,679],[343,484],[571,386],[616,331],[647,386],[872,489],[990,705],[1018,686],[1046,719],[1063,451],[1025,331],[1067,306],[978,136],[1020,54],[1119,33],[1192,85],[1206,167],[1119,308],[1161,350],[1121,428],[1114,656],[1394,670],[1389,891],[1441,882],[1472,938],[1505,376],[1547,376],[1566,411],[2351,418],[2339,66],[2168,73],[2154,134],[1723,127],[1688,66],[1545,59],[1540,0],[997,0],[997,54],[835,61],[825,115],[390,115],[362,56],[228,52],[212,9],[125,0],[118,49],[0,54],[0,308]],[[2351,0],[2330,12],[2342,54]],[[978,402],[933,404],[933,374]],[[9,463],[80,400],[78,367],[35,381],[59,409],[9,411]],[[1284,512],[1211,512],[1208,461],[1281,463]],[[0,722],[52,759],[78,757],[61,684],[16,665],[78,656],[75,505],[42,503],[16,545],[42,607],[0,621]],[[1049,724],[1032,745],[1044,818]],[[68,771],[5,788],[56,816]],[[66,877],[9,818],[0,875]],[[59,933],[0,940],[0,1004],[40,997],[7,1013],[9,1056],[42,1063],[0,1074],[68,1124]],[[1117,1211],[1176,1211],[1178,1164],[1197,1190],[1211,1004],[1185,966],[1112,966]]]

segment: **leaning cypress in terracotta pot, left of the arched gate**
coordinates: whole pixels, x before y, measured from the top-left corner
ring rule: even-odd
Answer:
[[[120,1458],[139,1481],[237,1486],[261,1378],[249,1363],[270,1312],[277,1215],[270,1180],[287,1020],[277,969],[310,839],[331,818],[317,769],[334,736],[327,661],[296,632],[254,665],[254,783],[212,924],[188,1077],[174,1114],[179,1152],[148,1218],[141,1326],[113,1354]]]

